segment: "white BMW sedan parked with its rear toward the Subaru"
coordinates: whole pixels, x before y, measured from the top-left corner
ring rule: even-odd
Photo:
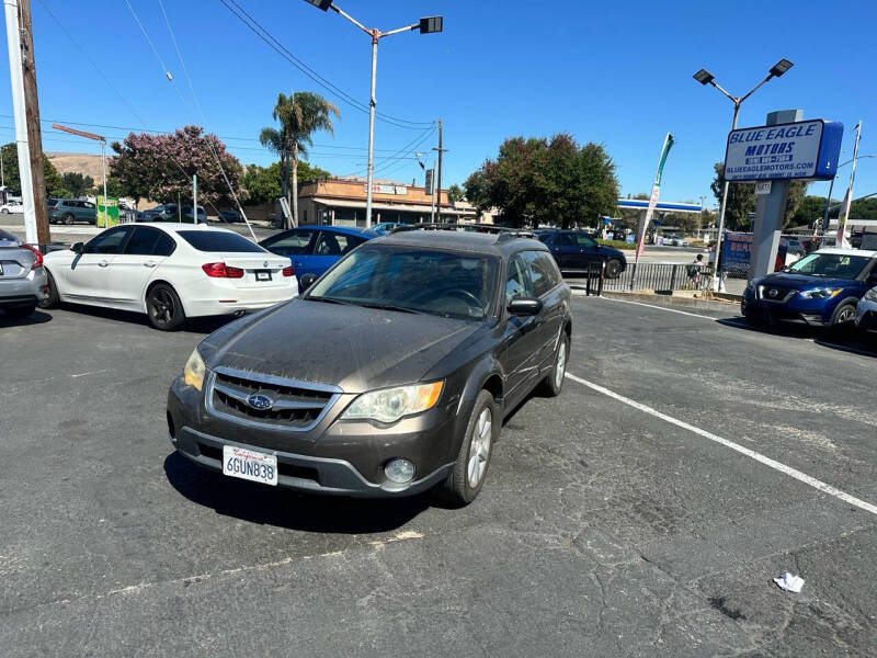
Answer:
[[[288,258],[225,228],[125,224],[46,254],[49,296],[145,313],[156,329],[266,308],[298,294]]]

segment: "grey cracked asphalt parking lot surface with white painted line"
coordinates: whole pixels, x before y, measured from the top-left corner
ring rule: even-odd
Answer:
[[[0,317],[0,653],[873,656],[877,354],[736,310],[578,297],[563,394],[457,510],[173,455],[168,385],[218,322]]]

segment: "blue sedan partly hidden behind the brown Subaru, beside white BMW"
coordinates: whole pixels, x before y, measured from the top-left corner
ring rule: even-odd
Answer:
[[[259,245],[289,258],[300,282],[305,274],[321,276],[341,257],[379,235],[353,226],[299,226],[265,238]]]

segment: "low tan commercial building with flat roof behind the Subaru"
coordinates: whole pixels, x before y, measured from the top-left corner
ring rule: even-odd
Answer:
[[[363,179],[328,179],[305,183],[298,192],[298,224],[365,226],[365,202],[368,188]],[[436,212],[437,217],[436,195]],[[425,189],[397,182],[374,182],[372,185],[372,224],[430,222],[433,200]],[[477,211],[470,204],[447,201],[442,190],[442,220],[472,223]]]

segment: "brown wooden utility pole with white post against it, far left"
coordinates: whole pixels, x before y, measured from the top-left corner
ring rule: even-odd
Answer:
[[[3,0],[9,47],[9,77],[15,117],[15,143],[29,243],[50,242],[46,183],[43,173],[43,139],[36,98],[36,65],[31,34],[30,0]]]

